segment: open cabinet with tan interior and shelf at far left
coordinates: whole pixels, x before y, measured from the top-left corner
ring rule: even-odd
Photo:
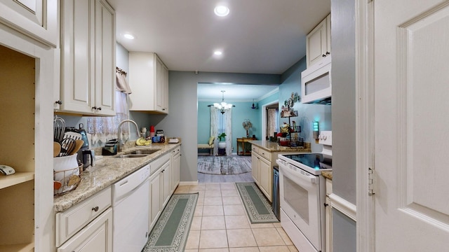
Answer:
[[[34,251],[35,59],[0,45],[0,251]],[[52,90],[49,90],[52,92]]]

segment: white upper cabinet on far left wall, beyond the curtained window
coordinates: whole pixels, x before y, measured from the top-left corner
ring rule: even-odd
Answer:
[[[168,69],[154,52],[129,52],[130,110],[168,113]]]

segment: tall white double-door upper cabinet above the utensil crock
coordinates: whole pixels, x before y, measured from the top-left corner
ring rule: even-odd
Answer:
[[[115,13],[106,1],[61,1],[60,111],[115,116]]]

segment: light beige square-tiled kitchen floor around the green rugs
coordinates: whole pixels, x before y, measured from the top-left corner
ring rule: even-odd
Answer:
[[[178,186],[175,193],[199,193],[186,252],[297,252],[281,223],[250,223],[234,183]]]

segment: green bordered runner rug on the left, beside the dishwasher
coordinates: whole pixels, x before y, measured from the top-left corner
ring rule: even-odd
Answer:
[[[184,251],[197,200],[198,193],[172,195],[142,252]]]

